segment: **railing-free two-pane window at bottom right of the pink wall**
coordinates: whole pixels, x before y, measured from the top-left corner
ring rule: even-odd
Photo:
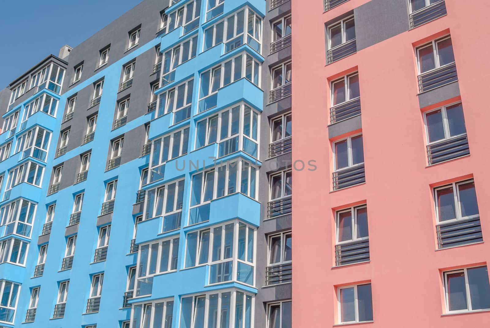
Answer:
[[[490,309],[487,266],[444,272],[444,288],[447,313]]]

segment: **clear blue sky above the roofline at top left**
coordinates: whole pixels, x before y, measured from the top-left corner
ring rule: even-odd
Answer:
[[[142,0],[0,0],[0,90],[49,54],[75,47]]]

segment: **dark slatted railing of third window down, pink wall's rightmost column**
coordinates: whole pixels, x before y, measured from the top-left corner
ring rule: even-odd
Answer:
[[[466,155],[469,155],[468,136],[466,134],[427,146],[429,165]]]

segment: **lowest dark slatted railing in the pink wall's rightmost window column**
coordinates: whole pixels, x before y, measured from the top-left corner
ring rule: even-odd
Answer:
[[[437,225],[437,242],[440,249],[482,241],[480,218],[458,220]]]

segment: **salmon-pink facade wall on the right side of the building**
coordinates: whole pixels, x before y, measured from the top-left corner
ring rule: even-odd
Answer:
[[[338,288],[368,282],[373,320],[357,325],[487,327],[490,311],[449,313],[443,272],[490,262],[488,3],[446,0],[447,15],[325,65],[325,23],[352,10],[357,20],[357,8],[368,2],[348,0],[324,12],[322,1],[292,1],[293,161],[317,165],[316,171],[293,170],[293,327],[341,324]],[[361,28],[356,25],[358,36]],[[461,94],[435,97],[421,108],[415,49],[449,34]],[[356,71],[362,128],[329,138],[330,82]],[[423,113],[457,101],[470,154],[428,165]],[[333,143],[361,132],[366,182],[333,191]],[[433,188],[468,178],[475,183],[483,242],[438,249]],[[336,211],[359,204],[368,208],[370,260],[336,266]]]

